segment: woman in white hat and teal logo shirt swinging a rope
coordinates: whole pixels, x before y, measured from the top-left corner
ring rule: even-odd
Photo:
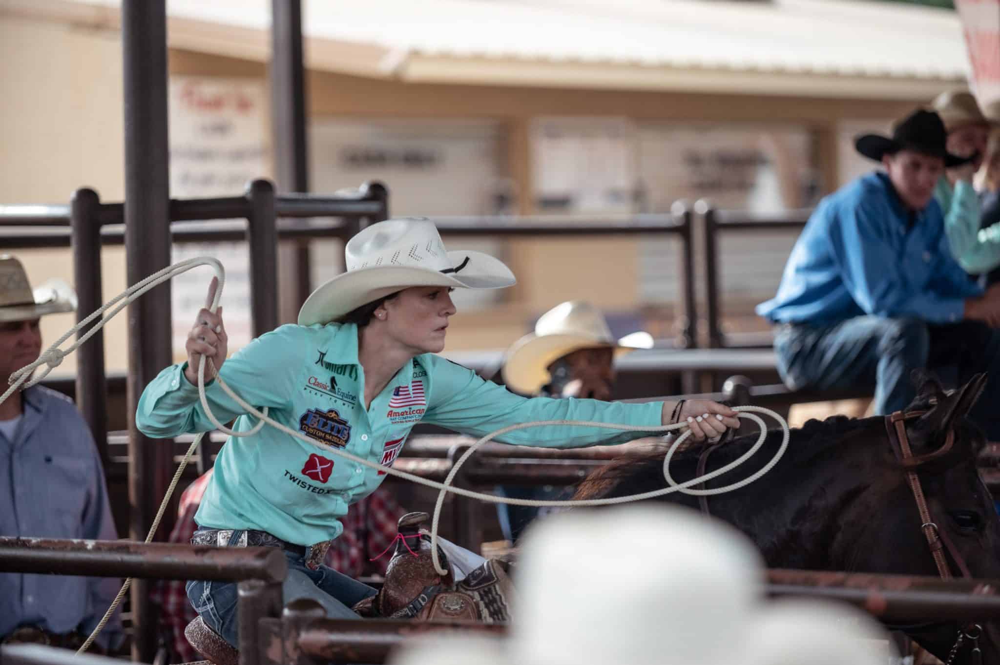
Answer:
[[[261,335],[228,360],[222,309],[201,310],[188,336],[188,361],[163,370],[136,412],[138,428],[151,437],[214,429],[196,387],[204,356],[244,400],[267,407],[271,418],[330,451],[266,426],[243,440],[230,438],[195,515],[199,530],[192,542],[282,547],[289,561],[286,602],[307,596],[332,617],[356,618],[350,607],[374,593],[321,565],[329,541],[342,531],[338,518],[385,478],[338,450],[391,466],[417,422],[482,436],[535,420],[652,428],[685,419],[698,439],[739,424],[734,411],[705,400],[526,399],[435,355],[455,313],[453,288],[503,288],[515,280],[491,256],[445,250],[427,220],[373,224],[347,243],[345,257],[347,271],[316,289],[297,325]],[[217,384],[206,386],[206,396],[220,422],[235,419],[240,432],[255,424]],[[634,438],[611,428],[548,426],[500,440],[581,447]],[[235,645],[236,585],[192,581],[187,592],[204,622]]]

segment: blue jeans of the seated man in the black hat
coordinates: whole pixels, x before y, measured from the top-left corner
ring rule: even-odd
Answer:
[[[1000,441],[1000,331],[978,321],[931,325],[916,319],[859,316],[836,325],[781,326],[774,338],[778,372],[792,389],[873,386],[875,413],[906,408],[916,397],[910,373],[932,371],[946,388],[987,372],[971,418]]]

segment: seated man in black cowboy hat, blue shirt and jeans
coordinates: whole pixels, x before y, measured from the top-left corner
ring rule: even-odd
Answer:
[[[952,257],[934,186],[964,158],[941,118],[916,111],[892,138],[866,135],[870,173],[820,201],[792,249],[777,295],[757,313],[778,324],[778,370],[791,388],[875,387],[875,409],[903,409],[910,374],[946,382],[989,372],[973,418],[1000,440],[1000,291],[985,294]],[[992,412],[992,413],[991,413]]]

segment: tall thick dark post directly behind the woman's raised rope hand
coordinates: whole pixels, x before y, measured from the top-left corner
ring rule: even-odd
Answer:
[[[125,103],[125,246],[128,284],[170,264],[169,146],[167,142],[166,0],[123,0],[122,62]],[[129,305],[129,535],[144,540],[173,464],[170,447],[135,427],[146,384],[172,360],[170,284]],[[161,528],[170,532],[172,515]],[[145,582],[132,585],[134,660],[152,662],[156,625]]]

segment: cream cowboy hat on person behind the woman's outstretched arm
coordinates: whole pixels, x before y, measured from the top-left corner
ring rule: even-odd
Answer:
[[[652,346],[653,338],[645,332],[615,340],[604,315],[596,307],[581,300],[571,300],[542,314],[535,323],[535,332],[511,345],[504,360],[503,380],[512,390],[533,395],[552,378],[546,368],[567,353],[609,347],[618,357]]]

